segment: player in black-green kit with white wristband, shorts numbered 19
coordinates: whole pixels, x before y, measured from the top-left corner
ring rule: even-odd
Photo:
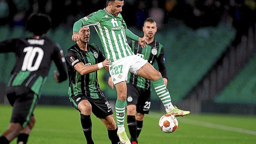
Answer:
[[[92,139],[92,121],[90,114],[102,120],[108,130],[112,144],[119,144],[117,126],[113,118],[112,108],[99,88],[97,70],[109,69],[110,61],[99,47],[88,44],[90,38],[89,27],[79,30],[80,40],[66,52],[66,64],[69,76],[70,102],[80,112],[81,125],[87,144],[94,144]]]

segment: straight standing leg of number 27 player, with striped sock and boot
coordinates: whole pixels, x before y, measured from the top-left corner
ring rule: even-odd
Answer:
[[[122,81],[120,83],[115,84],[115,88],[117,91],[117,100],[115,103],[115,113],[116,113],[116,121],[118,125],[118,136],[120,141],[125,144],[130,144],[130,140],[127,137],[125,132],[125,103],[127,96],[127,86],[126,81]]]

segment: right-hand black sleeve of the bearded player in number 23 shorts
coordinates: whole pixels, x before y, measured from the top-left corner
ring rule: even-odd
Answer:
[[[162,77],[167,78],[167,72],[165,67],[165,58],[164,58],[164,50],[163,47],[161,48],[159,56],[156,58],[159,72],[161,73]]]

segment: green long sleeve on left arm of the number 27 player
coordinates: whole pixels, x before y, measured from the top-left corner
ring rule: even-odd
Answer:
[[[81,27],[95,26],[99,24],[101,18],[102,18],[102,13],[100,11],[97,11],[95,13],[91,13],[90,15],[79,19],[77,22],[75,22],[73,26],[73,33],[74,32],[78,33]]]

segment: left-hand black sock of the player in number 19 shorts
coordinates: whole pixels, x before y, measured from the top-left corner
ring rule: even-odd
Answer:
[[[87,144],[94,144],[92,138],[92,121],[90,115],[81,115],[81,124],[83,127],[83,134],[86,138]]]

